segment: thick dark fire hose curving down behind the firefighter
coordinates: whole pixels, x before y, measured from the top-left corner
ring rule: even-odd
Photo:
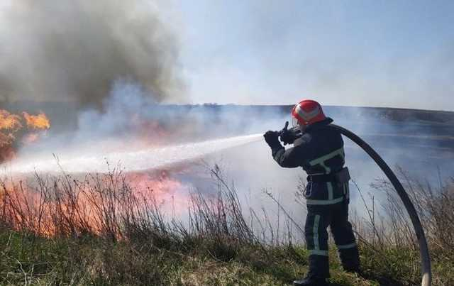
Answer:
[[[284,129],[282,129],[282,131],[279,131],[279,136],[287,131],[288,125],[288,122],[286,122]],[[380,169],[382,169],[382,171],[384,172],[384,175],[386,175],[389,181],[392,183],[394,189],[396,189],[397,194],[399,194],[399,197],[404,203],[405,209],[410,216],[411,223],[413,224],[413,228],[416,233],[416,238],[418,238],[419,254],[421,255],[421,286],[430,286],[432,282],[431,257],[428,251],[426,235],[424,234],[423,226],[421,225],[421,220],[419,219],[418,213],[416,212],[413,203],[411,203],[409,195],[406,193],[404,187],[402,186],[402,183],[399,181],[394,172],[392,172],[387,163],[384,162],[382,157],[378,155],[378,153],[372,147],[370,147],[369,144],[363,141],[355,133],[336,124],[328,124],[326,128],[340,132],[343,136],[348,137],[351,141],[360,146],[362,150],[364,150],[365,153],[367,153],[370,158],[372,158],[372,160],[377,163]]]

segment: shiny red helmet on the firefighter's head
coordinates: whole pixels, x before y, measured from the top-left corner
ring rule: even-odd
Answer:
[[[294,123],[301,126],[307,126],[326,119],[319,102],[310,99],[304,99],[295,105],[292,109],[292,117],[294,121],[297,121]]]

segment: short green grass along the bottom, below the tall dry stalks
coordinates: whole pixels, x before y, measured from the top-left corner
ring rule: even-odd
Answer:
[[[0,234],[0,284],[18,285],[291,285],[307,270],[303,248],[194,245],[173,251],[152,243],[109,243],[99,238],[33,238]],[[367,250],[363,249],[363,254]],[[394,253],[401,255],[403,252]],[[366,280],[344,273],[331,251],[332,285],[397,285],[380,257],[362,255]],[[401,261],[405,261],[402,259]],[[402,268],[401,271],[408,271]],[[388,270],[389,271],[389,268]],[[375,278],[374,278],[375,277]],[[377,277],[379,277],[377,279]],[[379,282],[380,281],[380,282]]]

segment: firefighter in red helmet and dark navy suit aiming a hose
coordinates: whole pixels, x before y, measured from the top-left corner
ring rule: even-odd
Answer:
[[[330,226],[339,258],[345,271],[358,272],[358,246],[348,221],[348,169],[344,167],[345,153],[341,133],[323,128],[333,122],[323,114],[314,100],[303,100],[292,109],[295,128],[279,134],[267,131],[265,141],[272,157],[281,167],[302,167],[306,171],[304,191],[307,205],[305,225],[306,246],[309,250],[309,272],[294,285],[327,285],[328,232]],[[298,130],[299,129],[299,130]],[[300,133],[297,135],[295,131]],[[292,143],[287,150],[279,142]]]

